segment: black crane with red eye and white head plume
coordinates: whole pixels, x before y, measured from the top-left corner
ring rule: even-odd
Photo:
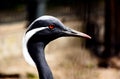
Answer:
[[[23,55],[25,60],[36,66],[40,79],[53,79],[52,72],[45,59],[45,46],[59,37],[91,37],[66,27],[59,19],[44,15],[33,21],[23,37]]]

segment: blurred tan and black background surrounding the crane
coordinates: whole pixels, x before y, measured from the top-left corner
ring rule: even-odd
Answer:
[[[42,15],[92,39],[59,38],[45,49],[54,79],[120,78],[119,0],[1,0],[0,79],[38,79],[22,55],[22,37]]]

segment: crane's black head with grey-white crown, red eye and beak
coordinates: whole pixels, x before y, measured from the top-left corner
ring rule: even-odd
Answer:
[[[31,42],[50,41],[64,36],[91,38],[89,35],[66,27],[60,20],[53,16],[42,16],[36,19],[28,28],[26,34]]]

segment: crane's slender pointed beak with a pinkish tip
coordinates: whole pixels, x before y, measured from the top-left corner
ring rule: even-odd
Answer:
[[[73,30],[68,28],[66,31],[63,31],[65,36],[74,36],[74,37],[83,37],[83,38],[88,38],[91,39],[91,37],[85,33]]]

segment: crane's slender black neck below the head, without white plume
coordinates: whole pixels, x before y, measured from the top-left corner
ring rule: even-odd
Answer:
[[[53,79],[52,72],[46,62],[44,53],[45,44],[39,43],[28,43],[28,52],[34,60],[40,79]]]

